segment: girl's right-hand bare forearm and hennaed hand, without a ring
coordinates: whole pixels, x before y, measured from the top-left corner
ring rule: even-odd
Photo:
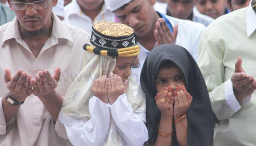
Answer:
[[[188,121],[186,112],[191,105],[192,96],[190,96],[184,87],[176,88],[177,93],[174,96],[174,124],[177,140],[180,146],[187,146],[188,143]]]

